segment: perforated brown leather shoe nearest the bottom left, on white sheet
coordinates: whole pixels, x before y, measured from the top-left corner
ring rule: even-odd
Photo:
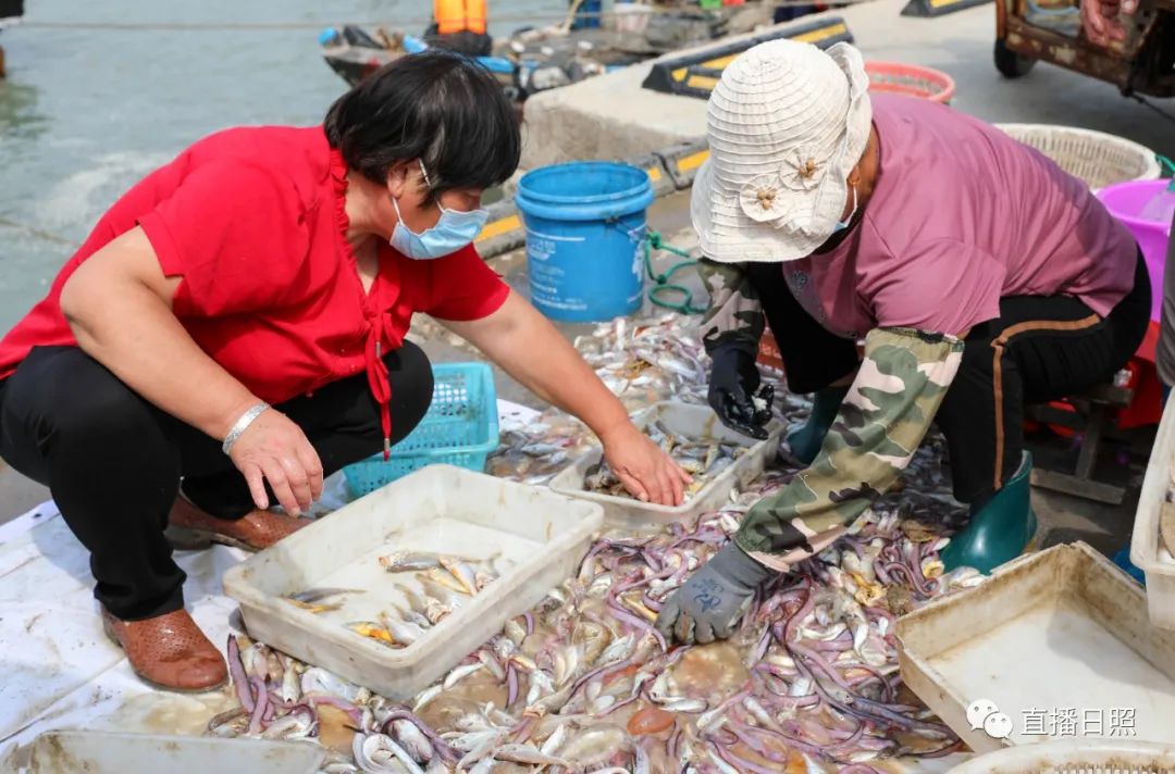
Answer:
[[[220,651],[188,611],[123,621],[102,608],[102,628],[121,647],[140,678],[164,691],[203,692],[228,680]]]

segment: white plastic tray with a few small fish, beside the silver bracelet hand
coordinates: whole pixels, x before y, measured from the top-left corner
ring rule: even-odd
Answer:
[[[450,465],[430,465],[392,482],[224,574],[246,628],[267,645],[397,700],[445,674],[503,624],[573,574],[603,520],[602,509],[546,489]],[[376,620],[403,600],[376,561],[391,551],[474,559],[501,552],[512,566],[464,601],[428,635],[391,650],[345,628]],[[364,588],[337,612],[314,614],[280,599],[309,588]]]

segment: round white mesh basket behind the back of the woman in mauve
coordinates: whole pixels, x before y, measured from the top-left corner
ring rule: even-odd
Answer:
[[[1104,132],[1047,123],[995,126],[1040,150],[1094,190],[1130,180],[1157,180],[1162,171],[1154,150]]]

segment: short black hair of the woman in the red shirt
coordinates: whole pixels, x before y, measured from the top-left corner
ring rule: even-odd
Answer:
[[[476,60],[444,51],[384,65],[330,106],[323,128],[348,167],[381,184],[394,163],[419,159],[430,196],[499,184],[522,153],[502,86]]]

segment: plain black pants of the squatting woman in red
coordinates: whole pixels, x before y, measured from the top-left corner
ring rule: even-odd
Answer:
[[[428,410],[432,370],[407,342],[384,362],[397,442]],[[277,409],[302,428],[328,476],[383,447],[364,373]],[[212,516],[235,519],[255,507],[219,442],[156,409],[74,346],[36,348],[0,382],[0,457],[49,487],[90,552],[94,595],[126,620],[183,606],[186,576],[163,537],[181,477],[184,494]]]

